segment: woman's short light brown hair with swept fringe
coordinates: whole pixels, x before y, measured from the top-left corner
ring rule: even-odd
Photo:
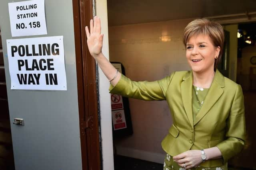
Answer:
[[[212,40],[212,43],[215,47],[220,46],[220,54],[217,59],[214,61],[214,70],[217,68],[217,64],[220,61],[223,53],[224,46],[224,31],[222,26],[214,21],[208,19],[196,19],[188,23],[183,32],[183,43],[186,46],[186,43],[190,37],[193,35],[208,35]]]

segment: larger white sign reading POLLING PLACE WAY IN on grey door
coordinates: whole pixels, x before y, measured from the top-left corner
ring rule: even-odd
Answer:
[[[7,39],[11,89],[67,90],[63,36]]]

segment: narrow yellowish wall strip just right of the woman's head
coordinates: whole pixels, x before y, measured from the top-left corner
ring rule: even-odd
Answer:
[[[224,25],[223,28],[230,33],[229,39],[229,77],[236,82],[236,69],[237,69],[237,30],[238,24]]]

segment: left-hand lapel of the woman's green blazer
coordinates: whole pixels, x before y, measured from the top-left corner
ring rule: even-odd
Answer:
[[[183,106],[185,108],[188,120],[193,127],[193,110],[192,110],[192,83],[193,74],[192,71],[187,72],[183,77],[183,82],[181,83],[181,97]]]

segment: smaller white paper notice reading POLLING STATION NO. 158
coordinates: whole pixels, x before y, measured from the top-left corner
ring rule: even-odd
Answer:
[[[44,0],[8,3],[12,37],[46,35]]]

